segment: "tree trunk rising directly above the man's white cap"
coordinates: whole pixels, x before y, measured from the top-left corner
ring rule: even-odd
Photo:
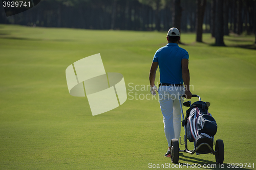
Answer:
[[[173,0],[173,26],[180,30],[181,27],[181,6],[180,6],[180,0]]]

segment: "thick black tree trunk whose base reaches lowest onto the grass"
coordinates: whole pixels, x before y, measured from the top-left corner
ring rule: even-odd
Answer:
[[[216,0],[216,21],[215,21],[215,44],[217,46],[225,46],[224,29],[223,29],[223,1]]]

